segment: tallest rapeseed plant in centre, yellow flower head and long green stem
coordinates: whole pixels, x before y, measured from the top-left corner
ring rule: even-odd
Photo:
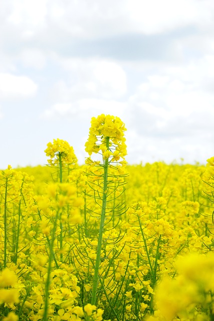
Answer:
[[[94,191],[95,201],[101,201],[100,226],[98,232],[98,244],[94,265],[91,297],[91,304],[93,305],[97,303],[97,288],[99,283],[99,268],[103,246],[103,233],[104,226],[107,224],[107,199],[110,195],[115,195],[115,181],[118,181],[118,186],[120,183],[121,185],[124,184],[124,180],[122,178],[123,175],[121,175],[123,171],[121,168],[126,164],[124,159],[124,156],[126,155],[126,144],[124,138],[125,130],[125,125],[119,117],[104,114],[98,116],[97,118],[93,117],[91,120],[89,138],[85,144],[86,151],[90,156],[92,153],[98,153],[102,155],[103,160],[103,164],[100,164],[99,161],[92,161],[91,157],[87,158],[86,160],[86,163],[91,167],[91,184],[93,185],[94,189],[97,188],[97,190]],[[120,166],[117,166],[117,162],[120,163]],[[108,182],[109,170],[111,171],[110,184]],[[95,176],[94,178],[93,174]],[[119,206],[119,208],[120,207],[121,206]],[[110,214],[110,212],[111,211],[108,209],[108,214]],[[109,222],[110,221],[111,218],[109,219]]]

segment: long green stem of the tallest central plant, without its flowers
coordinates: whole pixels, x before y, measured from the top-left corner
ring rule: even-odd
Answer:
[[[106,137],[106,147],[109,149],[109,137]],[[102,249],[102,239],[103,239],[103,230],[105,223],[105,213],[106,213],[106,200],[107,200],[107,185],[108,185],[108,158],[104,161],[104,178],[103,178],[103,200],[102,200],[102,211],[101,211],[101,219],[100,219],[100,229],[98,236],[98,245],[97,245],[97,255],[94,269],[94,279],[92,286],[92,298],[91,304],[96,305],[96,297],[97,297],[97,285],[99,280],[99,267],[100,267],[100,255]]]

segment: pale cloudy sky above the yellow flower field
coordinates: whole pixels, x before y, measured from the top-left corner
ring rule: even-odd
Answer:
[[[92,117],[125,123],[129,164],[214,156],[213,0],[2,0],[0,169],[87,153]]]

